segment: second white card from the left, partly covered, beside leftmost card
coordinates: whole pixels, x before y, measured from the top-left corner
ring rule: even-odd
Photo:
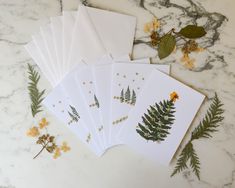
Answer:
[[[93,139],[96,140],[97,144],[100,146],[101,150],[104,151],[103,135],[102,135],[102,123],[99,120],[99,109],[97,107],[98,99],[94,99],[94,91],[89,90],[93,88],[93,83],[89,79],[80,80],[78,75],[83,74],[87,71],[87,65],[78,65],[70,74],[68,74],[60,83],[64,88],[65,92],[69,96],[70,100],[76,106],[78,111],[86,123],[87,127],[93,134]],[[87,86],[86,86],[87,85]],[[91,93],[89,93],[91,91]],[[90,98],[85,95],[89,93]],[[93,95],[92,95],[93,94]],[[90,103],[87,101],[89,100]],[[92,105],[92,107],[90,107]],[[95,112],[93,111],[93,106]]]

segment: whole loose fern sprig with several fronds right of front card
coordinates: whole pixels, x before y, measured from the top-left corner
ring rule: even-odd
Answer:
[[[220,126],[221,121],[224,119],[224,117],[222,116],[222,114],[224,113],[222,106],[223,104],[215,93],[212,104],[207,110],[207,113],[203,120],[192,132],[191,139],[182,150],[179,159],[177,160],[176,167],[171,176],[174,176],[175,174],[180,173],[184,169],[188,168],[187,162],[190,161],[190,167],[192,168],[197,178],[200,179],[200,161],[196,154],[196,151],[193,148],[192,141],[194,139],[210,138],[212,137],[211,134],[213,132],[218,131],[217,128]]]

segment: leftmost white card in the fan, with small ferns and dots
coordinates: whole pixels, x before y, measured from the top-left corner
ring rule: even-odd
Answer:
[[[96,155],[102,155],[103,151],[96,139],[94,139],[93,133],[87,127],[86,122],[70,100],[70,97],[66,95],[62,85],[58,85],[53,91],[43,100],[43,104],[59,119],[61,120],[83,143]]]

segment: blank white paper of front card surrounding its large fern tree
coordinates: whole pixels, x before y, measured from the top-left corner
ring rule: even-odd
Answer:
[[[174,102],[174,122],[164,141],[147,141],[136,129],[138,123],[143,123],[142,116],[150,105],[163,100],[170,100],[170,94],[176,92],[178,99]],[[204,96],[179,81],[154,70],[143,86],[135,108],[129,114],[128,121],[123,126],[121,138],[123,142],[136,151],[146,155],[156,163],[169,164],[187,129],[194,119]]]

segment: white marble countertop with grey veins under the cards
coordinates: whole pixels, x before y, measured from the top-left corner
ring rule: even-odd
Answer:
[[[209,35],[202,59],[193,70],[176,57],[173,77],[208,96],[192,128],[203,117],[214,92],[223,101],[225,120],[212,139],[195,142],[201,161],[201,181],[190,170],[170,178],[174,167],[157,166],[126,146],[112,148],[103,157],[87,147],[46,110],[50,131],[66,140],[71,151],[59,159],[40,149],[27,130],[36,122],[30,113],[27,63],[33,63],[23,45],[48,17],[76,10],[77,0],[0,1],[0,188],[232,188],[235,187],[235,1],[233,0],[92,0],[88,5],[134,15],[138,19],[134,58],[156,55],[144,41],[144,23],[153,15],[171,27],[181,22],[208,22]],[[159,63],[157,58],[153,62]],[[50,90],[42,76],[40,86]],[[187,140],[189,135],[186,136]]]

